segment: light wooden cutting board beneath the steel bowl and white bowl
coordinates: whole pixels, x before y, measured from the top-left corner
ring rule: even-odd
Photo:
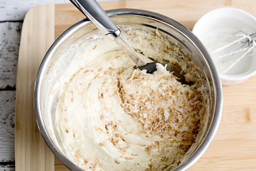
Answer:
[[[206,12],[236,7],[256,16],[255,0],[139,0],[101,2],[103,9],[139,8],[169,16],[190,30]],[[72,4],[41,5],[27,13],[20,40],[15,112],[16,171],[66,171],[46,145],[34,116],[35,77],[46,51],[84,16]],[[223,113],[214,140],[189,171],[256,170],[256,76],[223,86]]]

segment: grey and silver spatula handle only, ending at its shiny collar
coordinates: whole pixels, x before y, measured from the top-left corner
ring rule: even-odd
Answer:
[[[70,0],[105,36],[113,41],[120,30],[96,0]]]

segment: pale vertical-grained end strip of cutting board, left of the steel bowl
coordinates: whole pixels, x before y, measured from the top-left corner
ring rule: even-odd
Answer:
[[[35,77],[54,41],[54,5],[41,5],[27,13],[20,40],[16,83],[15,167],[24,171],[54,170],[54,155],[44,142],[34,115]]]

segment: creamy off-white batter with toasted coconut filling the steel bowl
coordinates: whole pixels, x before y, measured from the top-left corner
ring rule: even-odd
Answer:
[[[114,42],[93,34],[70,45],[58,94],[56,126],[70,160],[84,170],[162,171],[178,166],[197,145],[207,120],[207,86],[196,65],[157,30],[123,29],[142,58],[170,61],[187,73],[181,84],[166,66],[153,74]]]

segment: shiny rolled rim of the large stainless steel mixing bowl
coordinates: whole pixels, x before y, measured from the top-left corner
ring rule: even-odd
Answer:
[[[216,86],[211,86],[212,90],[215,92],[215,106],[213,107],[213,116],[212,121],[209,130],[206,132],[206,136],[203,138],[203,142],[200,146],[198,146],[195,151],[192,153],[189,158],[184,161],[182,164],[174,168],[172,171],[184,171],[187,170],[190,166],[192,166],[206,151],[208,146],[210,145],[212,139],[214,138],[215,133],[217,132],[219,122],[221,120],[221,113],[222,113],[222,106],[223,106],[223,98],[222,98],[222,86],[221,86],[221,79],[219,77],[217,68],[215,66],[215,63],[213,59],[211,58],[210,53],[207,51],[206,47],[204,47],[203,43],[185,26],[182,24],[176,22],[175,20],[164,16],[162,14],[158,14],[156,12],[151,12],[147,10],[142,9],[112,9],[109,11],[106,11],[106,13],[111,17],[117,16],[117,15],[139,15],[139,16],[146,16],[150,18],[157,19],[161,22],[164,22],[166,24],[172,25],[174,28],[180,30],[184,36],[186,36],[188,39],[191,40],[191,42],[194,43],[194,45],[198,48],[198,50],[203,54],[205,57],[205,60],[207,64],[209,65],[209,69],[211,71],[212,77],[215,80]],[[71,170],[78,170],[83,171],[82,168],[76,166],[74,163],[72,163],[70,160],[68,160],[66,157],[64,157],[63,153],[57,148],[57,146],[54,144],[54,142],[51,140],[44,123],[44,120],[42,118],[41,113],[41,85],[43,82],[44,73],[46,71],[46,68],[51,60],[51,57],[53,56],[54,52],[57,50],[57,48],[61,45],[61,43],[67,39],[71,34],[75,33],[76,30],[79,28],[85,26],[86,24],[89,24],[90,21],[85,18],[83,20],[80,20],[79,22],[75,23],[73,26],[69,27],[63,34],[60,35],[59,38],[56,39],[56,41],[53,43],[53,45],[50,47],[48,52],[45,54],[45,57],[42,60],[41,65],[39,66],[37,77],[35,80],[35,87],[34,87],[34,111],[35,111],[35,117],[37,120],[38,128],[48,145],[48,147],[51,149],[51,151],[54,153],[54,155],[63,163],[65,166],[67,166]],[[189,37],[188,37],[189,36]]]

